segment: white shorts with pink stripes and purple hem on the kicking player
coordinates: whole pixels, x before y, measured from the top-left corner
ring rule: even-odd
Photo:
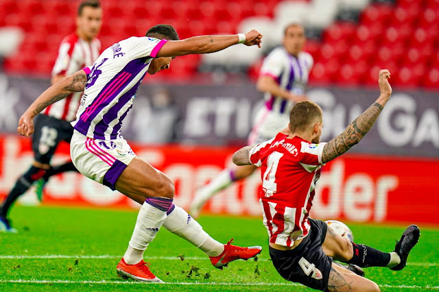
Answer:
[[[136,157],[123,138],[110,141],[93,139],[76,130],[71,138],[70,155],[80,173],[113,191],[122,171]]]

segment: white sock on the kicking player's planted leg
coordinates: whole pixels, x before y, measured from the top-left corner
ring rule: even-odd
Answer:
[[[158,230],[166,219],[166,212],[143,203],[137,215],[136,226],[132,232],[128,249],[123,256],[125,263],[135,265],[143,260],[143,252],[147,245],[154,239]]]

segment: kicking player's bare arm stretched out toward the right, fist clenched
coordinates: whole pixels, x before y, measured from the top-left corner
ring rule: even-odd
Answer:
[[[244,36],[244,45],[257,45],[261,47],[262,34],[256,30],[251,30]],[[158,51],[157,57],[176,57],[194,53],[214,53],[215,51],[221,51],[238,43],[238,34],[228,36],[193,36],[185,40],[169,40]]]

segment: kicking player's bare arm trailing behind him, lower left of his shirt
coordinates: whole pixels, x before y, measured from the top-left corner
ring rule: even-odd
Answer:
[[[34,117],[56,101],[68,97],[72,93],[84,91],[87,75],[80,70],[69,77],[56,82],[42,93],[21,116],[16,132],[29,137],[34,132]]]

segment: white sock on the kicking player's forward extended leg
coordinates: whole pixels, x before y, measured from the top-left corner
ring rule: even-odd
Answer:
[[[207,256],[219,256],[224,252],[224,245],[209,236],[195,219],[178,206],[167,215],[163,227],[200,248]]]

